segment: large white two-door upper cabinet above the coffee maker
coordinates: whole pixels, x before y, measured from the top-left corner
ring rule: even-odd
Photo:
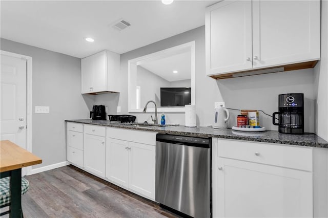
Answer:
[[[207,75],[320,59],[320,1],[223,1],[207,9]],[[301,67],[300,67],[301,66]],[[229,75],[230,73],[230,75]]]

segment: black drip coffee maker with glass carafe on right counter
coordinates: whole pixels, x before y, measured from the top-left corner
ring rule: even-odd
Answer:
[[[272,122],[279,126],[279,133],[304,133],[304,96],[303,93],[281,94],[278,97],[279,112],[272,115]],[[276,123],[276,115],[279,123]]]

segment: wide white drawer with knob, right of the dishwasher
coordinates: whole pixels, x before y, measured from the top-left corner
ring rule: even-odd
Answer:
[[[218,139],[218,157],[312,171],[312,148]]]

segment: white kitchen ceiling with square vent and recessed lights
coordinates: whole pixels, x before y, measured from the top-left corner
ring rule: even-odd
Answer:
[[[216,2],[1,1],[0,36],[79,58],[105,49],[122,54],[204,25],[206,7]],[[110,26],[120,18],[131,26]]]

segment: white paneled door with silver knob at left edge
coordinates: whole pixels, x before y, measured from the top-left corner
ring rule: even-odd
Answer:
[[[2,54],[0,82],[0,139],[26,149],[26,60]]]

